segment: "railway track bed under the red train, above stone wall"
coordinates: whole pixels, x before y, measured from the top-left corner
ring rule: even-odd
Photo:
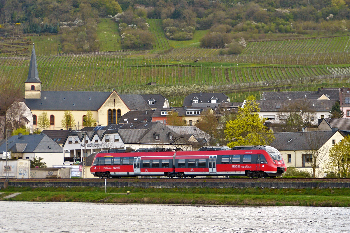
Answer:
[[[5,182],[1,179],[0,182]],[[104,182],[104,179],[10,179],[9,182]],[[296,178],[296,179],[258,179],[258,178],[196,178],[196,179],[159,179],[159,178],[127,178],[107,179],[107,182],[350,182],[350,178]]]

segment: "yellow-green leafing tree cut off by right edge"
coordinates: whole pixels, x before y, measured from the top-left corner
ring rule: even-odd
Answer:
[[[337,174],[338,178],[350,176],[350,136],[330,148],[326,168],[329,173]]]

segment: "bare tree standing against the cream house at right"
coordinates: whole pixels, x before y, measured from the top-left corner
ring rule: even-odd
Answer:
[[[303,163],[310,163],[315,178],[316,168],[319,167],[327,158],[329,148],[325,144],[324,135],[320,131],[305,132],[305,140],[302,145],[304,154],[302,154]]]

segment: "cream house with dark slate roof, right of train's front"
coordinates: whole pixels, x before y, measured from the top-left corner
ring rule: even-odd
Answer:
[[[313,174],[312,153],[318,153],[320,164],[315,175],[319,178],[323,178],[327,171],[324,165],[328,160],[329,149],[344,138],[344,134],[334,128],[326,131],[274,133],[274,136],[271,146],[280,151],[287,167],[307,170]]]

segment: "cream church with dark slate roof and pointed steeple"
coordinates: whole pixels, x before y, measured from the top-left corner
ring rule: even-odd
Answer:
[[[149,101],[150,99],[151,101]],[[113,88],[111,92],[43,91],[38,75],[35,49],[31,53],[28,78],[25,81],[25,99],[23,116],[28,119],[30,130],[38,127],[38,117],[47,112],[50,126],[48,129],[65,129],[61,121],[66,110],[71,111],[75,126],[72,130],[84,127],[86,113],[92,112],[96,125],[117,124],[119,118],[132,110],[152,110],[155,105],[169,107],[169,102],[162,95],[119,95]],[[40,128],[39,128],[40,129]],[[40,129],[42,130],[42,129]]]

